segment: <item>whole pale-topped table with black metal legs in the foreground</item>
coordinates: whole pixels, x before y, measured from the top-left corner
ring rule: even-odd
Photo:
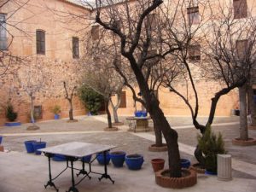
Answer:
[[[48,157],[48,160],[49,160],[49,181],[46,183],[46,185],[44,185],[44,187],[47,188],[47,186],[51,186],[51,187],[54,187],[56,191],[59,191],[59,189],[57,189],[55,187],[55,183],[53,183],[53,180],[55,180],[55,178],[59,177],[63,172],[65,172],[67,170],[67,168],[71,168],[72,186],[68,189],[67,192],[70,192],[70,191],[79,192],[79,190],[76,188],[76,185],[81,183],[81,181],[84,179],[84,177],[90,178],[89,174],[90,174],[90,172],[92,172],[91,171],[91,163],[95,159],[91,160],[89,162],[89,165],[90,165],[89,172],[86,172],[84,170],[84,161],[82,161],[83,166],[82,166],[82,169],[80,170],[79,174],[84,174],[85,176],[82,179],[80,179],[80,181],[78,183],[75,183],[75,181],[74,181],[73,171],[75,168],[73,167],[73,162],[77,161],[77,160],[81,160],[84,156],[87,156],[90,154],[97,154],[97,153],[101,153],[101,152],[104,154],[104,173],[98,173],[98,172],[92,172],[92,173],[102,175],[102,177],[99,177],[100,181],[104,177],[104,178],[110,179],[110,181],[112,181],[112,183],[114,183],[112,178],[108,175],[107,158],[106,158],[107,152],[112,148],[116,148],[116,146],[94,144],[94,143],[73,142],[73,143],[65,143],[65,144],[61,144],[61,145],[56,145],[54,147],[38,149],[38,150],[42,151],[45,154],[45,156]],[[67,167],[61,173],[59,173],[56,177],[52,178],[50,158],[53,157],[55,154],[61,154],[66,157]],[[69,165],[68,162],[70,162],[71,166],[68,166]],[[77,175],[79,176],[79,174],[77,174]]]

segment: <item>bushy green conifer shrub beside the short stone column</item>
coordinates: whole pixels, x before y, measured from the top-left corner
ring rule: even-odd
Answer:
[[[218,137],[212,132],[210,125],[203,136],[198,135],[198,146],[203,153],[205,166],[209,172],[217,172],[217,154],[226,154],[221,133]]]

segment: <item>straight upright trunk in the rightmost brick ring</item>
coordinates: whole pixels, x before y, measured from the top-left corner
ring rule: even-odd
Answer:
[[[239,102],[240,102],[240,139],[248,139],[247,131],[247,84],[239,87]]]

